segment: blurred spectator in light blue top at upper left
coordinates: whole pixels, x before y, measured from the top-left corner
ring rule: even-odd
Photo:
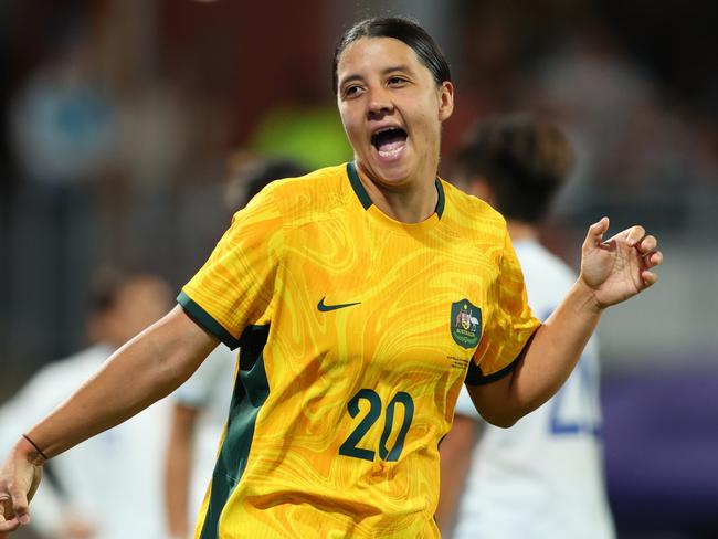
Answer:
[[[95,189],[117,141],[116,102],[99,75],[92,32],[74,14],[67,18],[52,38],[39,38],[53,49],[12,88],[8,103],[11,170],[17,168],[7,224],[6,267],[14,282],[6,303],[15,326],[10,356],[13,347],[30,358],[77,348],[85,297],[68,290],[86,289],[99,243]],[[19,335],[34,324],[54,330],[38,340]]]

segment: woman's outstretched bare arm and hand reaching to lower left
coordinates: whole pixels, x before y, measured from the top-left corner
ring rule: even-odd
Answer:
[[[46,458],[131,418],[187,380],[218,345],[181,307],[140,332],[21,438],[0,468],[0,539],[29,521]]]

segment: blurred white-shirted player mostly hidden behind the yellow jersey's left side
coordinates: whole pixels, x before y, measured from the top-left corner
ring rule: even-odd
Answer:
[[[264,186],[307,172],[289,158],[258,158],[233,152],[228,160],[224,202],[230,212],[243,208]],[[218,346],[175,393],[165,474],[167,528],[170,537],[191,537],[224,430],[234,387],[236,352]]]

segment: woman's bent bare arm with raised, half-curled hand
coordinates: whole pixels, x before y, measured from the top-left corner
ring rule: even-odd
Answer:
[[[656,239],[643,226],[632,226],[603,242],[608,228],[603,218],[589,229],[579,279],[529,340],[516,369],[497,381],[468,387],[489,423],[510,426],[545,403],[571,373],[603,310],[656,283],[652,270],[663,262]]]

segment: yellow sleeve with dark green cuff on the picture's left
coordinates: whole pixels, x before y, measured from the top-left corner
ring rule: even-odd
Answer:
[[[282,216],[270,187],[234,214],[177,300],[196,323],[234,349],[245,327],[270,321],[282,249]]]

